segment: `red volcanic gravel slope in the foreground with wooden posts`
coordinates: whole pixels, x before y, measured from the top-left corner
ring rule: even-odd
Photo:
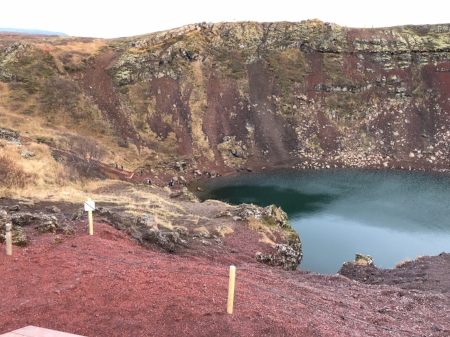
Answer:
[[[81,225],[80,225],[81,226]],[[94,236],[0,245],[0,334],[27,325],[84,336],[449,336],[448,295],[337,275],[237,268],[147,250],[105,224]]]

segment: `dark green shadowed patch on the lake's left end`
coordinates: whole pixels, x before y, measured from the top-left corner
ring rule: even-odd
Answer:
[[[280,206],[291,220],[306,214],[320,212],[331,204],[337,196],[330,194],[309,194],[295,189],[279,188],[277,186],[223,186],[200,195],[202,201],[206,199],[222,200],[238,205],[242,203],[268,206]]]

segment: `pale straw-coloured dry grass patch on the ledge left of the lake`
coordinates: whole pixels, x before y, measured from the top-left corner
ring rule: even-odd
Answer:
[[[191,216],[182,206],[159,196],[151,187],[143,189],[131,183],[116,180],[72,181],[65,176],[64,165],[54,160],[46,145],[30,145],[28,150],[35,152],[36,155],[29,159],[22,158],[20,149],[16,146],[8,145],[7,147],[7,151],[12,155],[10,161],[2,161],[2,163],[15,163],[30,178],[26,186],[13,186],[7,191],[0,189],[1,195],[28,203],[41,200],[64,201],[80,204],[80,207],[90,197],[97,204],[127,205],[125,211],[133,215],[151,214],[155,216],[158,228],[163,227],[168,230],[174,229],[172,220],[176,218],[185,217],[184,220],[191,220],[194,224],[199,220],[198,216]],[[3,158],[4,151],[5,147],[0,148],[0,158]],[[102,190],[107,192],[101,192]]]

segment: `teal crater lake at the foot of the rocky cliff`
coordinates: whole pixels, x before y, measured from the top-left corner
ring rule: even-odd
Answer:
[[[206,181],[200,199],[276,204],[303,243],[302,270],[334,274],[355,253],[381,268],[450,251],[450,176],[328,170]]]

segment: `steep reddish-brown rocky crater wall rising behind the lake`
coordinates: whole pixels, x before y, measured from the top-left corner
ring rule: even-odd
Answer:
[[[3,90],[40,95],[35,110],[63,107],[66,124],[106,120],[105,134],[135,144],[140,164],[170,155],[218,172],[450,166],[450,25],[202,23],[2,45]]]

